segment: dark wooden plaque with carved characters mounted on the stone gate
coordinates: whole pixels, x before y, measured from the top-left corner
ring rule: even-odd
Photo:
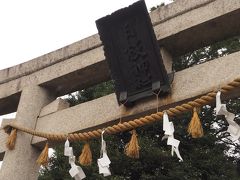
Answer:
[[[157,39],[144,1],[96,21],[119,103],[170,90]]]

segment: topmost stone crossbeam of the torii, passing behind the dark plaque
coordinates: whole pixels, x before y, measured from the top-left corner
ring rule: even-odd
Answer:
[[[239,0],[178,0],[151,13],[159,45],[174,57],[239,33]],[[0,71],[0,114],[38,84],[64,95],[110,79],[98,35]],[[9,103],[11,101],[12,103]]]

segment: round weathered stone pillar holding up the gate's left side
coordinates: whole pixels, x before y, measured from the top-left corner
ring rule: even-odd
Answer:
[[[43,106],[54,99],[49,92],[39,86],[23,89],[17,109],[16,123],[35,128],[37,117]],[[7,150],[0,170],[1,180],[35,180],[39,166],[36,164],[40,151],[31,145],[32,136],[17,132],[15,149]]]

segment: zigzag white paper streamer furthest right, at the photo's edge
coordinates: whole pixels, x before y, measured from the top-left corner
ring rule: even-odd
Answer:
[[[216,95],[216,115],[224,115],[229,126],[227,132],[230,133],[232,140],[236,141],[240,138],[240,126],[234,121],[235,114],[228,112],[226,104],[221,102],[221,91]]]

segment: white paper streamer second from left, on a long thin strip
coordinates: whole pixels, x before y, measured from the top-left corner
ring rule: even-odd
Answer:
[[[107,155],[107,150],[106,150],[106,142],[103,139],[103,134],[104,131],[102,132],[102,147],[101,147],[101,151],[100,151],[100,158],[98,159],[97,163],[98,163],[98,168],[99,168],[99,174],[103,174],[103,176],[110,176],[111,172],[109,169],[109,165],[111,163],[110,159],[108,158]]]

